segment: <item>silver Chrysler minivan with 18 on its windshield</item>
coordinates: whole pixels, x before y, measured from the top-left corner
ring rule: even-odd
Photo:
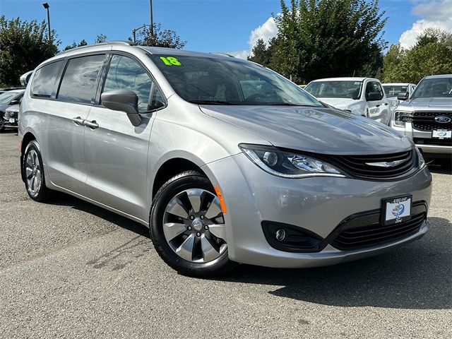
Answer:
[[[225,55],[71,49],[33,73],[19,134],[30,198],[63,191],[141,222],[186,275],[331,265],[429,229],[410,139]]]

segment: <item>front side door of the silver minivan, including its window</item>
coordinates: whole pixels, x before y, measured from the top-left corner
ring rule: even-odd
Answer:
[[[138,112],[142,121],[135,127],[125,112],[102,105],[90,110],[88,122],[94,125],[86,129],[84,137],[88,197],[148,221],[149,138],[156,114],[153,111],[159,105],[153,99],[160,90],[138,61],[114,54],[102,93],[118,89],[133,90],[138,95]],[[160,100],[157,102],[161,103]]]

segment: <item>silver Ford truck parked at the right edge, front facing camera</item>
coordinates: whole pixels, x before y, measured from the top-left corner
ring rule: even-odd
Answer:
[[[409,97],[409,99],[408,99]],[[399,93],[391,127],[405,134],[424,153],[452,155],[452,74],[426,76],[412,95]]]

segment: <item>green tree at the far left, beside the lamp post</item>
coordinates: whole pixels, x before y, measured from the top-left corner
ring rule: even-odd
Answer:
[[[58,45],[54,31],[49,42],[45,21],[8,20],[0,16],[0,84],[19,85],[20,76],[53,57]]]

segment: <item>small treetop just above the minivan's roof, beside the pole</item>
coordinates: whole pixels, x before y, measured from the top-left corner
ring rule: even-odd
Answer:
[[[129,38],[131,40],[131,38]],[[168,47],[183,49],[186,41],[181,40],[174,30],[163,30],[160,23],[154,24],[153,34],[150,27],[145,27],[137,33],[136,44],[142,46]]]

